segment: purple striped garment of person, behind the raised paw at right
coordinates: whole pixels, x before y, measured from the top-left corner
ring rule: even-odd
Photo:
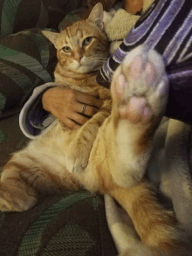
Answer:
[[[96,79],[99,85],[110,88],[113,73],[127,53],[138,45],[146,45],[161,54],[168,73],[169,95],[165,115],[192,124],[192,23],[188,22],[191,10],[188,6],[189,0],[183,3],[155,0],[100,69]]]

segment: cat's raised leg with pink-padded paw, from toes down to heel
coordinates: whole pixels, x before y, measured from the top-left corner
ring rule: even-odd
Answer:
[[[168,101],[168,78],[161,56],[141,45],[129,52],[114,73],[114,147],[118,156],[112,175],[120,186],[133,186],[144,176],[154,132]]]

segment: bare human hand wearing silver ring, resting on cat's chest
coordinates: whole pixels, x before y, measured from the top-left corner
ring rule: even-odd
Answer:
[[[51,112],[58,120],[65,123],[68,128],[79,128],[88,118],[82,115],[83,107],[86,105],[84,114],[92,117],[102,106],[103,102],[96,97],[98,92],[82,93],[63,86],[51,87],[42,97],[42,104],[46,111]]]

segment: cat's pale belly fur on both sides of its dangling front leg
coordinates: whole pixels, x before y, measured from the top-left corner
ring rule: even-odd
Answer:
[[[108,131],[106,131],[108,129]],[[106,176],[106,180],[110,180],[110,157],[107,155],[108,143],[110,135],[110,126],[108,126],[108,118],[104,121],[103,125],[99,128],[99,133],[93,143],[93,149],[90,152],[89,162],[80,173],[69,173],[66,169],[67,152],[70,150],[70,142],[76,135],[77,130],[66,131],[62,128],[61,123],[58,122],[51,130],[45,135],[38,137],[29,143],[27,149],[24,149],[28,156],[40,161],[40,164],[45,167],[45,170],[54,176],[60,178],[65,186],[65,177],[74,176],[79,183],[84,184],[87,190],[98,191],[100,190],[100,174]],[[107,138],[107,136],[109,136]],[[26,150],[28,152],[26,152]],[[17,154],[16,154],[17,156]],[[99,174],[99,175],[98,175]],[[105,175],[104,175],[105,174]],[[107,177],[108,176],[108,177]]]

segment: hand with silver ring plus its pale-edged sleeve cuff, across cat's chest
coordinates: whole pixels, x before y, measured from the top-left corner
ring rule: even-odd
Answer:
[[[56,83],[38,86],[19,115],[20,128],[30,139],[51,128],[56,119],[69,128],[79,128],[102,106],[97,96],[98,92],[81,93]]]

